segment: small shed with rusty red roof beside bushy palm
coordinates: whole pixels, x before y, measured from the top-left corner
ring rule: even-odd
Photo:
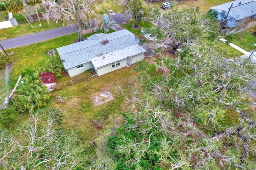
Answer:
[[[47,86],[47,91],[53,91],[56,87],[56,81],[54,73],[44,72],[40,74],[40,79],[42,80],[43,85]]]

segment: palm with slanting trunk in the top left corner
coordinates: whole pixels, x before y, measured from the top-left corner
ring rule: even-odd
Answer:
[[[28,24],[33,28],[32,24],[30,23],[26,15],[23,14],[23,12],[21,12],[22,10],[24,10],[24,6],[20,0],[4,0],[4,8],[9,12],[12,12],[15,14],[21,13],[28,21]]]

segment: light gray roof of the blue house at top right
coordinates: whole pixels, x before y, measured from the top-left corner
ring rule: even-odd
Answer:
[[[241,4],[239,4],[241,2]],[[248,16],[253,16],[256,14],[256,0],[235,0],[228,2],[226,4],[217,5],[211,7],[211,9],[226,11],[228,12],[231,4],[232,8],[228,15],[232,16],[236,20],[242,20]]]

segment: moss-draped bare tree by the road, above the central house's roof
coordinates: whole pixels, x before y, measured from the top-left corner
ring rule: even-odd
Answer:
[[[98,29],[100,15],[96,14],[95,8],[100,8],[100,2],[96,0],[42,0],[46,6],[44,18],[49,22],[50,19],[58,22],[62,20],[69,25],[76,24],[78,30],[78,41],[82,41],[82,30],[88,29],[92,20],[95,21],[94,27]]]

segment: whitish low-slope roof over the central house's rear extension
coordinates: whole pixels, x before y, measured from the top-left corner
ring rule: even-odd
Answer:
[[[128,57],[132,57],[134,55],[138,55],[141,53],[145,53],[146,50],[141,47],[140,45],[132,45],[130,47],[126,47],[123,49],[120,49],[118,51],[114,51],[112,53],[107,53],[104,55],[100,55],[98,57],[95,57],[91,59],[92,64],[96,69],[103,67],[105,65],[108,65],[110,63],[113,63],[115,61],[119,61]]]

